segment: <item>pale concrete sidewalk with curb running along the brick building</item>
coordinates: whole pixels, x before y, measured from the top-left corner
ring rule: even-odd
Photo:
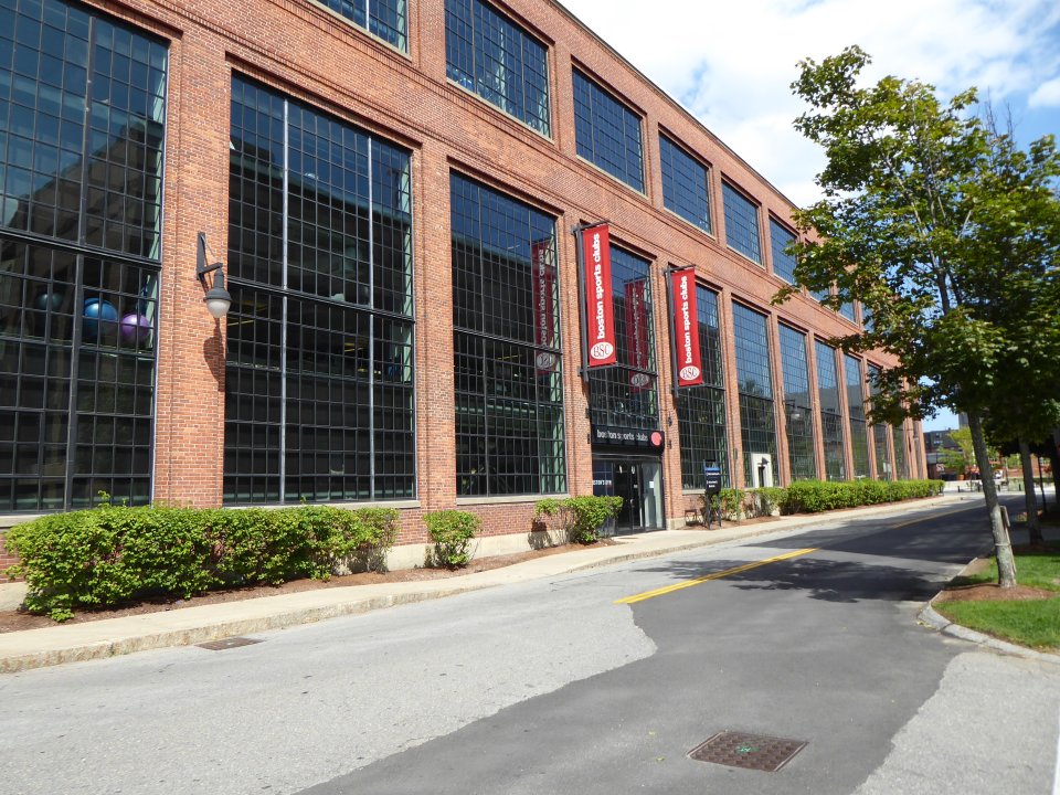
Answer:
[[[915,504],[903,502],[833,511],[827,515],[783,517],[764,522],[727,523],[720,530],[651,531],[618,537],[613,545],[547,555],[501,569],[444,580],[319,589],[123,618],[59,624],[40,629],[3,633],[0,634],[0,672],[99,659],[168,646],[200,644],[798,528],[886,516],[915,518],[918,513],[940,505],[964,504],[972,508],[979,502],[982,502],[981,495],[948,494]],[[10,594],[10,590],[15,586],[19,585],[3,587],[8,589]]]

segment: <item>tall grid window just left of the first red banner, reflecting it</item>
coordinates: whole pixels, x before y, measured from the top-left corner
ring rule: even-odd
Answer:
[[[456,492],[566,490],[555,219],[449,179]]]

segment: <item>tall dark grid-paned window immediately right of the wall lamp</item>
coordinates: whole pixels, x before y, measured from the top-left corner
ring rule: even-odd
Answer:
[[[235,76],[224,501],[415,496],[410,153]]]

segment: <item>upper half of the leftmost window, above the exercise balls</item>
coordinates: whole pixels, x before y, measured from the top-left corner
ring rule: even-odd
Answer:
[[[158,259],[167,49],[78,8],[0,9],[0,229]]]

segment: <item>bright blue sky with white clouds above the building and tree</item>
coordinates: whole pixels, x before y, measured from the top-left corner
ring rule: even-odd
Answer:
[[[1060,136],[1057,0],[560,0],[796,205],[818,198],[820,149],[792,126],[803,59],[858,44],[865,77],[971,86],[1026,146]],[[924,428],[957,426],[942,412]]]

